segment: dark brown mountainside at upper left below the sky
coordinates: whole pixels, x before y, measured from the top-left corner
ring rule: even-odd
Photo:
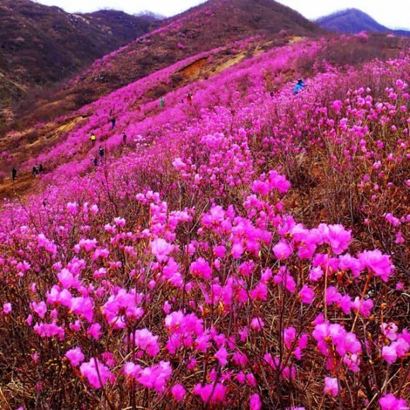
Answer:
[[[70,14],[29,0],[0,0],[3,107],[35,85],[73,76],[156,25],[152,16],[121,11]]]

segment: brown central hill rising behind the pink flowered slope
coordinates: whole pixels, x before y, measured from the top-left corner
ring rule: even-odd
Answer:
[[[58,110],[62,114],[62,103],[74,110],[199,52],[257,35],[273,38],[286,33],[312,36],[322,30],[273,0],[210,0],[168,18],[158,30],[96,61],[73,84],[54,93],[52,102],[59,100]],[[39,108],[44,111],[44,107],[42,102]],[[54,108],[57,110],[57,104]],[[44,118],[44,115],[37,117]]]

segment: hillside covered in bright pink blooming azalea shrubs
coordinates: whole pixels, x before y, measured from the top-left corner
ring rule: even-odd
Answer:
[[[1,212],[2,407],[406,407],[410,56],[324,62],[293,95],[325,49],[163,108],[130,84],[36,158]]]

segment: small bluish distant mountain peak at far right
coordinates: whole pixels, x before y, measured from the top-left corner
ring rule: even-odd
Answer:
[[[362,31],[369,33],[396,33],[398,35],[410,35],[406,30],[391,30],[380,23],[377,23],[374,18],[357,8],[348,8],[343,11],[329,14],[318,18],[316,23],[326,30],[336,33],[356,34]]]

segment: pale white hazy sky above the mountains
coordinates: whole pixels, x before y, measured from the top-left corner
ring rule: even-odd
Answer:
[[[204,0],[38,0],[66,11],[95,11],[116,8],[127,13],[150,10],[163,16],[173,16]],[[360,8],[379,23],[391,28],[410,28],[410,0],[279,0],[307,18],[316,18],[343,8]]]

